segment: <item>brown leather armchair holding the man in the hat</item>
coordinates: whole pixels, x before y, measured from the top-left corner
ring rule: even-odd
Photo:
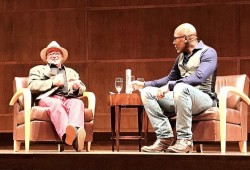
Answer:
[[[28,87],[27,77],[15,77],[13,81],[14,96],[10,105],[14,106],[13,140],[14,151],[20,150],[22,142],[28,152],[30,142],[53,142],[58,144],[58,150],[63,151],[64,145],[57,135],[44,107],[34,106],[32,95]],[[85,92],[81,97],[85,102],[84,128],[86,130],[86,150],[90,151],[93,140],[95,95]]]

